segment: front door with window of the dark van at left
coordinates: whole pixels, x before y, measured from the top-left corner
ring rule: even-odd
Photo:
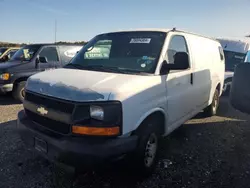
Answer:
[[[60,67],[60,61],[57,53],[57,49],[55,46],[45,46],[39,53],[40,57],[46,57],[47,63],[40,63],[40,70],[49,70]]]

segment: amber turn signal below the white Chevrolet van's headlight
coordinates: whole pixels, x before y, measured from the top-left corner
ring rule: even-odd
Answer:
[[[83,127],[72,126],[72,132],[75,134],[92,135],[92,136],[116,136],[120,133],[119,127]]]

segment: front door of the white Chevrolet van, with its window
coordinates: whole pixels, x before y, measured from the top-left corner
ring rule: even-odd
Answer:
[[[170,37],[166,61],[174,63],[174,55],[176,52],[186,52],[189,54],[189,49],[185,37],[181,34],[169,33]],[[191,58],[190,58],[191,62]],[[167,113],[168,125],[178,125],[178,121],[188,115],[193,106],[193,72],[192,65],[187,70],[170,71],[166,78],[166,95],[167,95]],[[171,127],[170,127],[171,128]]]

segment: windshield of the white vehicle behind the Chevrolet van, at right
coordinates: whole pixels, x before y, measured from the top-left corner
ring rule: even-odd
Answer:
[[[224,54],[226,71],[234,71],[235,66],[239,63],[244,63],[244,59],[246,57],[246,54],[244,53],[231,52],[226,50],[224,50]]]

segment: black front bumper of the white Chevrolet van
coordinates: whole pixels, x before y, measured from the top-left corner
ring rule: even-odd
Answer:
[[[73,136],[49,136],[32,127],[39,126],[27,118],[24,111],[18,113],[17,129],[24,143],[39,151],[48,160],[73,167],[93,166],[115,160],[137,147],[137,136],[125,138],[93,138]],[[43,142],[43,149],[37,147]]]

